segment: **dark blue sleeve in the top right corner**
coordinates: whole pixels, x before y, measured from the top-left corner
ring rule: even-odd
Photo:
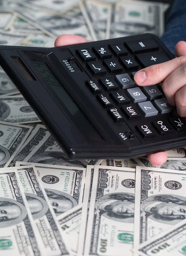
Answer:
[[[161,40],[175,54],[175,45],[186,41],[186,0],[175,0]]]

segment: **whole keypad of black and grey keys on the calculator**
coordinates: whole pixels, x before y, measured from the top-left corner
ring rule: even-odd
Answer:
[[[122,126],[123,121],[134,122],[133,127],[143,139],[186,130],[185,119],[161,117],[175,111],[165,98],[162,83],[143,87],[134,82],[134,75],[140,68],[170,60],[156,41],[145,39],[98,45],[80,49],[78,54],[95,77],[86,81],[87,86],[117,125]],[[94,55],[97,57],[92,61]],[[158,121],[149,119],[159,115]],[[143,125],[137,124],[138,119]]]

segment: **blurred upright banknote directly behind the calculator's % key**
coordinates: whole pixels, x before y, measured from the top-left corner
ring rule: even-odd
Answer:
[[[111,20],[112,6],[100,1],[87,0],[80,3],[82,13],[88,24],[94,40],[108,39],[109,21]],[[104,49],[103,49],[104,55]]]

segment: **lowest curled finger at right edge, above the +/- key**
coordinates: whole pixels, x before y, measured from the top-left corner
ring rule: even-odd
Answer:
[[[181,117],[185,117],[186,116],[186,85],[177,91],[175,95],[175,102],[176,102],[178,115]]]

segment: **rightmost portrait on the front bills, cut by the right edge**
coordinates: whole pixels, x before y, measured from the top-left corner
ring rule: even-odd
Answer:
[[[151,196],[141,204],[141,213],[162,223],[176,224],[186,218],[186,197]]]

